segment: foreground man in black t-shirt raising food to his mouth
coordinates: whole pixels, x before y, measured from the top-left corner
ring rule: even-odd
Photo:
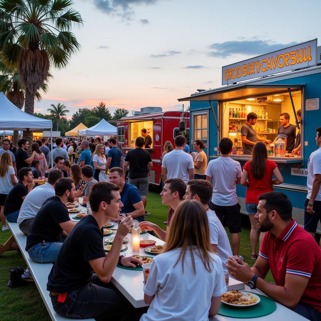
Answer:
[[[62,317],[139,320],[141,311],[108,283],[117,263],[131,267],[142,264],[132,256],[119,256],[123,239],[133,225],[131,216],[119,224],[108,255],[104,251],[102,227],[110,217],[118,218],[123,207],[119,187],[96,183],[91,187],[89,202],[91,215],[69,234],[48,276],[53,308]]]

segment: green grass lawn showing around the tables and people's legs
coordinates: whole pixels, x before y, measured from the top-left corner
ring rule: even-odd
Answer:
[[[158,188],[150,187],[146,209],[148,212],[151,212],[152,215],[146,216],[146,220],[151,221],[159,225],[163,230],[166,230],[166,225],[164,225],[163,222],[167,220],[168,206],[161,204],[159,193],[160,190]],[[1,224],[0,227],[2,227]],[[227,229],[226,226],[224,227]],[[228,230],[227,234],[229,235]],[[0,243],[4,244],[10,236],[10,231],[0,230]],[[245,262],[249,265],[253,265],[255,260],[251,259],[250,225],[249,219],[246,216],[242,219],[240,242],[240,254],[244,257]],[[9,251],[4,252],[4,254],[0,256],[0,320],[50,321],[47,309],[45,308],[35,284],[31,283],[17,288],[7,287],[10,270],[15,266],[26,268],[26,263],[21,253]],[[270,272],[267,275],[266,280],[273,281]]]

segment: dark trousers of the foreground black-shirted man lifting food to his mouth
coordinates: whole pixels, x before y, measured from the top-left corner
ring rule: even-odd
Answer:
[[[91,282],[68,292],[64,303],[58,302],[58,295],[50,294],[50,298],[57,314],[74,319],[138,321],[144,312],[143,308],[135,309],[111,282],[101,282],[96,274]]]

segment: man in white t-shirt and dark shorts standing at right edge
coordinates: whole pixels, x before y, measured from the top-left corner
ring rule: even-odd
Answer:
[[[321,222],[321,127],[316,128],[319,149],[308,160],[308,195],[304,204],[304,229],[314,238],[318,221]],[[321,240],[320,240],[321,247]]]

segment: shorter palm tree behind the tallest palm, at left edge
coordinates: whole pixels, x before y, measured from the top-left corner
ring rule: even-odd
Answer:
[[[48,78],[52,77],[48,74]],[[41,86],[44,93],[48,90],[48,84],[44,82]],[[21,83],[20,76],[18,74],[17,67],[10,68],[0,59],[0,91],[3,91],[7,98],[13,103],[13,105],[22,109],[24,103],[25,88]],[[39,91],[36,92],[36,99],[40,101],[42,99]],[[13,131],[13,142],[18,146],[19,132]]]

